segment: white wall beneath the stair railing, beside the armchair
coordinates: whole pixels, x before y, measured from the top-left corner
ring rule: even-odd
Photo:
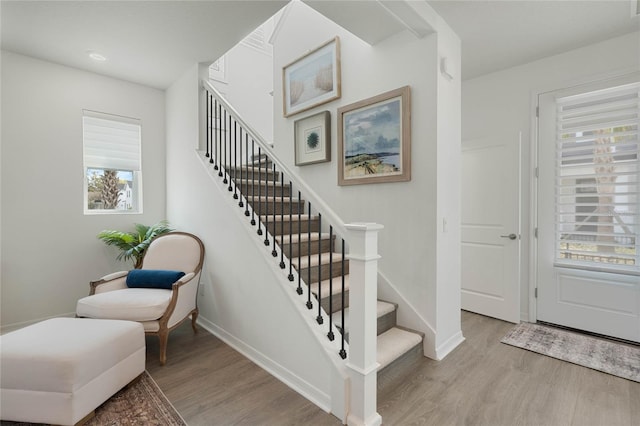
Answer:
[[[264,246],[217,172],[211,177],[212,166],[205,167],[196,154],[199,78],[206,72],[206,66],[194,65],[167,90],[166,103],[167,216],[180,229],[198,235],[205,246],[199,321],[339,416],[336,404],[344,401],[332,400],[332,387],[343,381],[332,367],[339,359],[337,348],[331,356],[319,343],[326,338],[317,338],[321,328],[313,325],[303,300],[293,301],[299,296],[274,262],[271,247]]]

